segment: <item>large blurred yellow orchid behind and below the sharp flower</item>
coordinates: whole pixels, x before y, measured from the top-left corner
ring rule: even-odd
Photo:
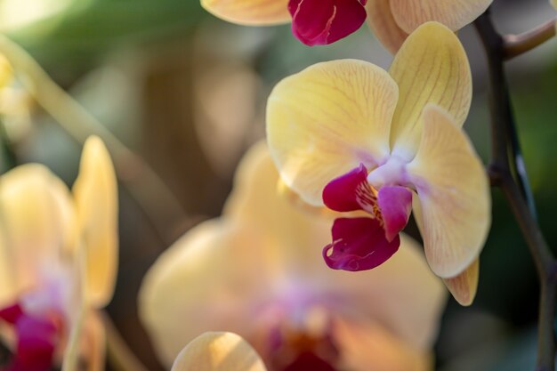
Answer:
[[[140,318],[169,366],[204,331],[242,335],[270,370],[427,370],[446,294],[411,238],[377,270],[329,270],[331,218],[277,191],[263,143],[238,168],[221,218],[174,243],[141,285]]]

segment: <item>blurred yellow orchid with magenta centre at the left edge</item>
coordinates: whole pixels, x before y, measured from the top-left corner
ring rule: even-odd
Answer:
[[[95,310],[117,270],[117,184],[99,138],[85,142],[73,194],[44,165],[0,177],[0,322],[12,371],[104,367]]]

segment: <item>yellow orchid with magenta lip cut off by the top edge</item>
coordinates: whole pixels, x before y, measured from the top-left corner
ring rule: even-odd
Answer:
[[[260,26],[292,20],[303,44],[332,44],[367,19],[392,52],[419,25],[439,21],[456,31],[485,12],[493,0],[201,0],[223,20]]]

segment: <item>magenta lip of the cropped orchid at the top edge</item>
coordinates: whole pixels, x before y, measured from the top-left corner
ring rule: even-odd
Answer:
[[[367,0],[290,0],[292,32],[303,44],[332,44],[366,20]]]

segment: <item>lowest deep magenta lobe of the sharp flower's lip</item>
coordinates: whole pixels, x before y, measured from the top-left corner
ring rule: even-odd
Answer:
[[[323,258],[334,270],[371,270],[386,262],[400,246],[399,236],[387,241],[376,219],[339,218],[332,232],[333,243],[325,246]]]

